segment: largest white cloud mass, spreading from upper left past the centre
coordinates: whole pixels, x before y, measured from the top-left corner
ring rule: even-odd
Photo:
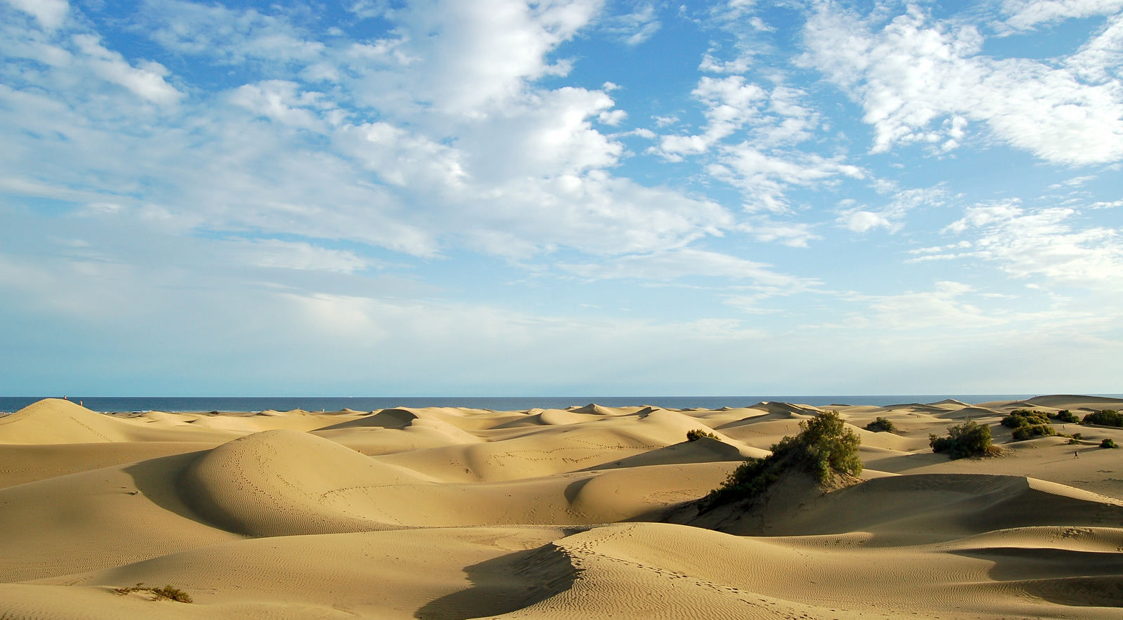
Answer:
[[[119,216],[168,229],[348,239],[414,256],[460,245],[518,258],[562,247],[617,255],[731,229],[734,218],[713,201],[606,172],[624,147],[594,124],[626,118],[606,92],[532,84],[563,69],[547,55],[597,10],[596,2],[411,4],[384,16],[396,22],[390,38],[323,45],[284,17],[153,2],[146,19],[168,49],[272,63],[266,73],[285,79],[200,94],[154,121],[124,95],[183,100],[167,72],[130,65],[99,38],[77,35],[77,60],[44,67],[40,88],[0,86],[7,127],[48,136],[36,143],[45,161],[33,165],[17,148],[0,161],[11,186],[51,179],[54,195],[116,204]],[[128,91],[60,101],[82,92],[63,85],[89,65]],[[312,79],[309,67],[337,84],[301,83]],[[408,100],[364,90],[375,83]],[[29,135],[4,137],[16,145]],[[143,200],[138,176],[159,180]]]

